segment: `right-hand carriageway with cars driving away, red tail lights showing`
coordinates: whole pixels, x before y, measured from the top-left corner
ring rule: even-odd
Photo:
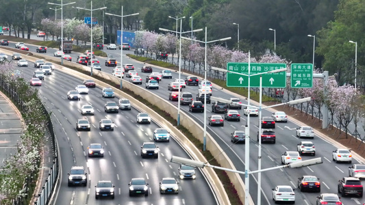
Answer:
[[[10,44],[12,46],[12,44]],[[32,46],[29,46],[29,49]],[[51,49],[49,49],[51,50]],[[31,49],[31,51],[34,51]],[[106,51],[106,50],[105,50]],[[119,50],[116,51],[106,51],[107,53],[112,54],[118,60]],[[125,53],[132,53],[133,51],[123,51]],[[49,53],[47,53],[49,55]],[[75,53],[73,54],[75,55]],[[101,59],[99,57],[99,59]],[[129,59],[128,57],[123,58],[123,63],[131,63],[134,64],[138,74],[145,78],[147,74],[140,72],[140,67],[142,64],[134,61],[133,59]],[[111,73],[112,68],[102,68],[103,71]],[[159,68],[155,68],[153,66],[154,71],[160,71]],[[186,77],[186,74],[181,75],[182,79]],[[173,73],[173,78],[177,78],[177,73]],[[46,79],[47,81],[47,79]],[[171,81],[169,79],[163,79],[160,82],[160,90],[151,90],[155,94],[162,96],[168,100],[167,96],[167,83]],[[142,86],[144,85],[136,85]],[[72,87],[72,86],[71,86]],[[193,95],[197,94],[197,86],[187,86],[183,89],[184,92],[191,92]],[[65,91],[66,92],[66,91]],[[90,94],[89,94],[90,96]],[[234,97],[229,92],[225,92],[225,90],[213,88],[213,96],[221,97],[221,98],[230,98]],[[246,103],[246,100],[241,98],[242,103]],[[82,102],[82,100],[81,100]],[[75,102],[74,102],[75,103]],[[177,102],[172,102],[177,105]],[[181,106],[182,111],[188,113],[194,120],[196,120],[201,126],[203,126],[203,113],[190,113],[188,112],[188,106]],[[211,109],[208,106],[207,116],[210,116],[212,113]],[[242,113],[242,111],[240,111]],[[223,114],[222,114],[223,115]],[[263,116],[270,115],[270,112],[264,110]],[[75,119],[76,120],[76,119]],[[74,120],[74,121],[75,121]],[[244,144],[232,144],[229,140],[230,133],[234,130],[244,130],[243,126],[246,124],[247,117],[242,115],[241,122],[225,122],[224,127],[210,127],[207,126],[207,131],[214,137],[214,139],[218,142],[218,144],[225,150],[226,154],[230,157],[231,161],[234,162],[236,168],[238,170],[244,171]],[[73,122],[74,122],[73,121]],[[257,169],[257,141],[256,135],[258,131],[258,119],[257,117],[251,117],[251,148],[250,148],[250,169]],[[275,128],[275,133],[277,136],[277,142],[275,144],[263,144],[262,145],[262,169],[267,167],[275,167],[277,165],[281,165],[281,154],[283,154],[287,150],[295,151],[297,149],[297,143],[300,141],[313,141],[316,146],[316,156],[303,156],[303,160],[311,159],[313,157],[321,156],[323,157],[323,164],[315,165],[312,167],[304,167],[301,169],[277,169],[270,172],[262,173],[262,204],[273,204],[272,200],[272,191],[271,189],[276,185],[290,185],[295,188],[297,185],[297,178],[303,175],[315,175],[320,178],[321,181],[321,193],[337,193],[337,182],[340,178],[344,176],[348,176],[348,167],[347,163],[334,163],[331,160],[331,154],[333,150],[336,150],[336,147],[329,143],[326,139],[322,139],[321,137],[316,137],[314,139],[298,139],[295,137],[294,129],[299,125],[294,124],[290,118],[288,123],[278,123],[277,128]],[[115,131],[114,131],[115,132]],[[77,143],[77,142],[75,142]],[[176,154],[174,154],[176,155]],[[177,155],[181,156],[181,155]],[[160,159],[159,159],[160,161]],[[356,159],[353,159],[353,163],[357,163]],[[363,162],[361,162],[363,163]],[[243,176],[242,179],[244,180]],[[254,174],[250,177],[250,194],[253,197],[254,202],[257,202],[257,174]],[[363,183],[364,184],[364,183]],[[318,193],[301,193],[298,189],[296,192],[296,201],[297,204],[315,204],[316,196]],[[342,197],[342,202],[344,204],[360,204],[362,199],[357,200],[356,197]]]

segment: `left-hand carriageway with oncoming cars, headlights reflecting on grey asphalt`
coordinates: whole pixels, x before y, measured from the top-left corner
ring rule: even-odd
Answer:
[[[21,68],[28,81],[35,70],[32,66]],[[175,141],[158,142],[158,159],[142,159],[140,146],[144,141],[153,141],[153,131],[159,126],[137,124],[136,109],[105,113],[107,101],[117,102],[118,98],[102,98],[101,89],[91,88],[89,94],[82,95],[80,101],[66,98],[68,90],[82,84],[80,79],[55,70],[46,76],[41,87],[36,87],[45,105],[52,112],[56,136],[62,160],[61,187],[55,204],[217,204],[214,193],[205,176],[197,170],[196,180],[179,180],[179,194],[160,195],[159,182],[163,177],[178,179],[178,165],[170,163],[171,156],[189,158],[185,150]],[[82,105],[92,105],[95,115],[82,116]],[[76,131],[78,119],[87,118],[92,124],[90,132]],[[114,131],[99,131],[101,119],[111,119],[116,124]],[[101,143],[105,148],[103,158],[88,158],[86,153],[90,143]],[[67,173],[73,165],[82,165],[88,171],[87,187],[68,187]],[[148,197],[129,197],[128,183],[131,178],[146,178],[149,182]],[[95,185],[98,180],[112,180],[115,184],[114,200],[95,200]]]

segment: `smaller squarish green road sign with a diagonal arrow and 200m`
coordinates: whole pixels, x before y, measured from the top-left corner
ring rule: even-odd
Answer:
[[[290,86],[292,88],[313,87],[313,65],[292,64],[290,72]]]

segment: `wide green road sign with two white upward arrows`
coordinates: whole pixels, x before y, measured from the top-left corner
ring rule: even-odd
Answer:
[[[286,68],[286,64],[250,64],[251,74]],[[249,74],[248,63],[227,63],[227,71]],[[249,77],[227,72],[227,87],[249,87]],[[260,74],[250,77],[250,87],[260,87]],[[262,87],[286,87],[286,72],[262,74]]]

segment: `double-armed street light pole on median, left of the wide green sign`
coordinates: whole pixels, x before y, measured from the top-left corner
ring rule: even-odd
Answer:
[[[195,42],[200,42],[205,44],[205,60],[204,60],[204,81],[207,80],[207,44],[212,43],[212,42],[218,42],[218,41],[225,41],[225,40],[230,40],[231,37],[228,38],[221,38],[218,40],[212,40],[212,41],[207,41],[207,27],[205,27],[205,42],[201,41],[201,40],[195,40],[192,38],[186,38],[184,36],[182,36],[181,38],[186,39],[186,40],[194,40]],[[207,146],[207,98],[206,98],[206,92],[204,92],[204,136],[203,136],[203,151],[206,150],[206,146]]]

